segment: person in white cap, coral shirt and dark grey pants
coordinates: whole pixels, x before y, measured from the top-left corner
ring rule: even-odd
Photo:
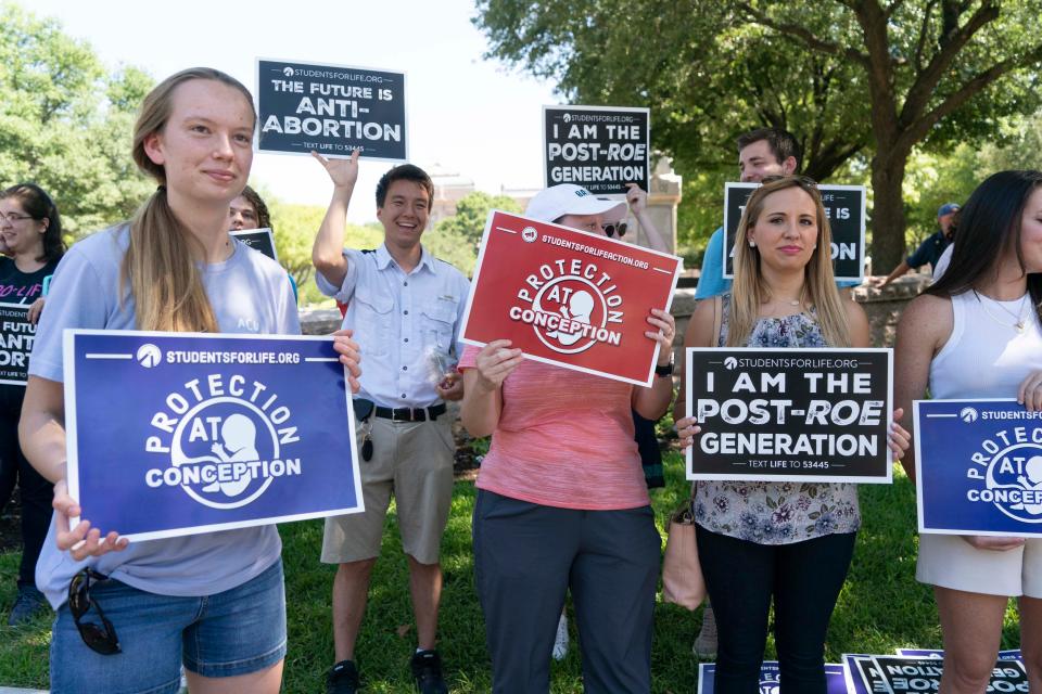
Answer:
[[[525,216],[606,235],[623,205],[571,184]],[[460,360],[463,426],[492,435],[478,477],[474,566],[493,691],[549,691],[550,648],[570,589],[586,692],[649,692],[651,615],[661,540],[634,441],[631,408],[658,419],[673,396],[673,318],[652,309],[658,374],[637,387],[523,360],[506,339]]]

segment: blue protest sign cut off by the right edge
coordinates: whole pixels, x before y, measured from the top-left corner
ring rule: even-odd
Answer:
[[[1015,400],[917,400],[919,532],[1042,537],[1042,412]]]

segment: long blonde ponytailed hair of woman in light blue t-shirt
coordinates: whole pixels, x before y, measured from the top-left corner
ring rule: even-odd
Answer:
[[[245,97],[256,121],[253,97],[236,78],[209,67],[192,67],[160,82],[141,103],[134,126],[134,160],[160,187],[130,220],[130,245],[119,272],[120,286],[129,285],[138,330],[216,333],[217,318],[203,287],[195,260],[202,244],[170,209],[166,171],[149,158],[144,141],[166,127],[174,110],[174,91],[193,79],[211,79]]]

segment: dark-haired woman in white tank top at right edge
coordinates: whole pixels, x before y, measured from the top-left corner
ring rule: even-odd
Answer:
[[[897,404],[1013,398],[1042,410],[1042,172],[1001,171],[962,210],[951,266],[898,325]],[[914,449],[902,461],[915,479]],[[919,581],[933,586],[944,637],[941,694],[988,687],[1009,596],[1024,661],[1042,691],[1042,538],[919,537]]]

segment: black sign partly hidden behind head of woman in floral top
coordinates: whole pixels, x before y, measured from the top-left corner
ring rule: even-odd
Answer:
[[[734,278],[734,247],[746,201],[759,183],[724,187],[724,277]],[[818,185],[833,231],[833,273],[837,280],[861,281],[865,274],[865,187]]]

